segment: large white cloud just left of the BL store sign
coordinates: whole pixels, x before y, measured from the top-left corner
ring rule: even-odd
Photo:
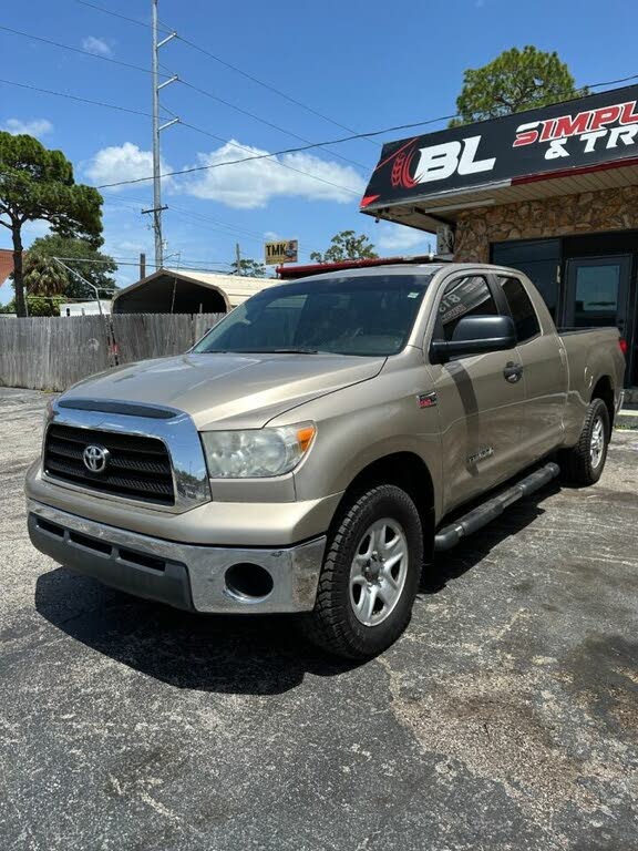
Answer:
[[[268,153],[247,145],[238,147],[238,144],[231,140],[215,151],[198,154],[197,165],[218,165]],[[181,184],[181,189],[187,194],[244,209],[265,207],[270,198],[281,196],[356,204],[364,188],[366,182],[354,168],[308,153],[282,154],[210,168]]]

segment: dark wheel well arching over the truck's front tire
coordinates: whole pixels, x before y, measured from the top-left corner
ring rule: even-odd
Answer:
[[[350,502],[353,494],[362,493],[378,484],[395,484],[408,493],[419,514],[423,526],[426,561],[430,560],[429,542],[434,542],[434,485],[430,470],[422,458],[414,452],[394,452],[391,455],[373,461],[363,468],[352,480],[343,494],[336,519],[340,516],[342,506]],[[428,530],[431,534],[428,534]]]

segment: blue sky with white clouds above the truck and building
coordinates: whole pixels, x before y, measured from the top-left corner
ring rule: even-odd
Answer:
[[[150,0],[92,1],[150,22]],[[514,45],[557,50],[578,84],[636,73],[631,6],[626,0],[607,0],[604,7],[590,0],[421,0],[400,6],[380,0],[161,0],[160,17],[168,29],[224,62],[338,124],[367,132],[453,113],[464,69]],[[0,30],[3,80],[150,113],[150,74],[97,58],[148,69],[147,25],[78,0],[7,4],[0,23],[92,54]],[[316,142],[347,134],[183,41],[163,48],[162,61],[166,73],[208,92],[200,94],[183,83],[163,92],[166,116],[179,115],[198,129],[176,125],[162,134],[166,171],[245,155],[237,144],[255,153],[274,152],[303,144],[295,136]],[[49,147],[64,151],[80,182],[100,185],[151,173],[151,120],[145,115],[0,82],[0,127],[32,132]],[[403,135],[390,133],[380,141]],[[165,181],[163,201],[169,209],[164,236],[166,254],[173,255],[166,265],[223,269],[234,257],[236,242],[244,256],[260,258],[264,239],[270,237],[298,238],[300,259],[308,260],[311,250],[325,248],[344,228],[368,234],[384,254],[426,249],[426,235],[374,224],[358,212],[379,152],[378,144],[360,140],[279,157],[282,165],[265,160]],[[137,277],[133,264],[141,250],[153,260],[150,219],[140,214],[152,206],[152,184],[103,194],[104,247],[122,260],[119,283],[125,286]],[[2,230],[0,247],[10,247],[9,232]],[[42,223],[27,226],[25,243],[42,233]],[[0,300],[7,301],[9,285],[3,290]]]

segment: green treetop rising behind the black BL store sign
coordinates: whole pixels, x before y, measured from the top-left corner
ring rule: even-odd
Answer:
[[[531,44],[523,50],[512,48],[483,68],[465,71],[456,99],[460,117],[452,119],[450,126],[511,115],[583,94],[587,90],[576,90],[569,69],[556,52],[546,53]]]

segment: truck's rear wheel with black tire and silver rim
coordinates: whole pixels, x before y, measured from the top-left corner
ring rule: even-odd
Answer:
[[[593,399],[585,414],[578,443],[560,453],[563,479],[569,484],[595,484],[605,468],[611,428],[601,399]]]

